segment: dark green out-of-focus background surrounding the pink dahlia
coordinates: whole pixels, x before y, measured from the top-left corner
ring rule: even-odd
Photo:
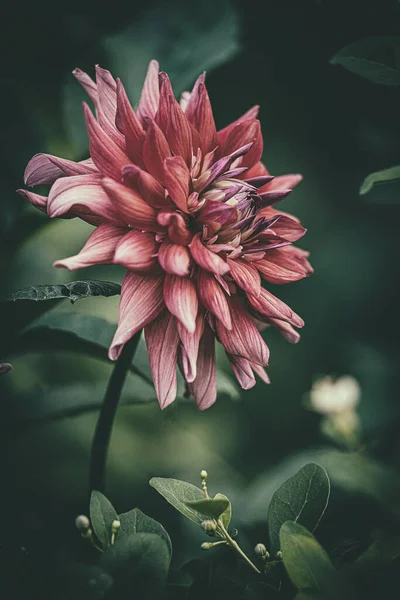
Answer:
[[[160,520],[179,566],[200,554],[201,536],[149,487],[151,477],[198,485],[206,468],[210,490],[230,497],[233,524],[251,547],[266,537],[276,487],[313,460],[332,479],[320,538],[333,553],[365,547],[375,530],[397,527],[400,188],[377,186],[367,196],[358,190],[370,172],[400,162],[400,95],[398,87],[376,86],[329,61],[359,38],[398,34],[399,2],[38,0],[33,9],[23,0],[2,13],[2,292],[122,279],[116,267],[53,268],[54,260],[79,251],[91,227],[49,222],[15,193],[33,154],[87,156],[84,93],[71,75],[77,66],[90,74],[96,63],[112,70],[133,102],[152,58],[177,94],[206,70],[217,126],[259,104],[268,169],[304,175],[282,208],[308,228],[300,246],[311,252],[315,274],[273,290],[304,318],[300,343],[267,331],[272,383],[247,392],[221,356],[220,396],[204,413],[182,398],[161,412],[151,386],[130,375],[108,462],[113,504],[120,512],[139,506]],[[104,348],[117,309],[118,297],[64,301],[22,337],[16,332],[24,316],[14,314],[11,322],[3,311],[0,358],[14,371],[0,378],[0,562],[1,581],[13,581],[15,597],[25,561],[43,582],[53,565],[79,552],[73,519],[87,512],[91,438],[111,372]],[[142,347],[138,361],[148,370]],[[361,388],[367,456],[328,440],[321,416],[304,406],[316,378],[344,374]]]

